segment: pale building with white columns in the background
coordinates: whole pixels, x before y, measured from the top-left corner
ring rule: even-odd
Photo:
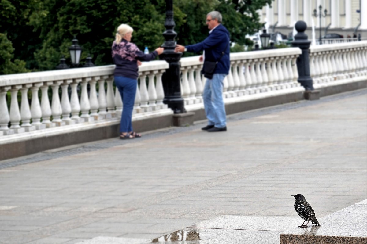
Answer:
[[[312,19],[316,27],[316,38],[319,37],[320,19],[313,15],[314,10],[319,13],[327,10],[326,17],[321,17],[321,35],[338,33],[344,37],[353,33],[361,33],[367,37],[367,0],[273,0],[271,7],[266,5],[261,12],[262,22],[267,22],[270,32],[280,31],[288,35],[292,32],[294,23],[304,20],[308,30],[306,34],[312,35]]]

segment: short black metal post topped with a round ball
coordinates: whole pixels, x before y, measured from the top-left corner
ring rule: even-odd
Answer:
[[[295,29],[298,33],[294,36],[292,46],[302,50],[302,54],[297,58],[298,82],[305,87],[305,90],[313,90],[309,60],[309,48],[311,42],[305,34],[305,30],[307,29],[306,22],[302,20],[297,21]]]

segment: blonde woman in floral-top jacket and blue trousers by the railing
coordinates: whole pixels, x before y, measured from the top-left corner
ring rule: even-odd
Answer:
[[[163,48],[157,48],[152,53],[144,54],[137,45],[130,42],[134,30],[122,24],[117,27],[116,40],[112,44],[112,59],[116,65],[114,76],[117,89],[123,101],[120,122],[120,139],[141,137],[132,130],[132,109],[137,91],[138,65],[141,61],[150,61],[163,53]]]

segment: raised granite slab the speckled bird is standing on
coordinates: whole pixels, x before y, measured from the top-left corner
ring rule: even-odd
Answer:
[[[366,201],[366,200],[365,200]],[[367,204],[353,204],[319,219],[321,226],[291,228],[280,234],[280,244],[367,243]]]

